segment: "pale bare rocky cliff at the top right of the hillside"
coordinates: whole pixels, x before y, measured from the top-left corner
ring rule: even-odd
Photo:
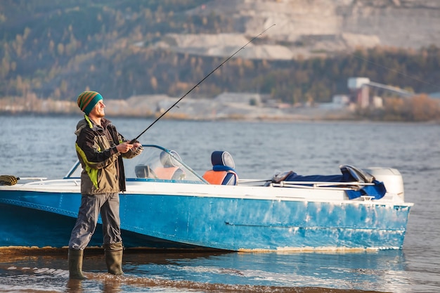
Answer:
[[[440,46],[436,0],[216,0],[190,15],[230,18],[234,34],[167,34],[157,46],[207,56],[228,56],[271,27],[245,58],[292,59],[387,46]]]

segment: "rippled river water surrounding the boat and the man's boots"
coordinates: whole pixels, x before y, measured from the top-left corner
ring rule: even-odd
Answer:
[[[60,178],[76,160],[79,117],[0,117],[0,174]],[[152,121],[112,118],[127,138]],[[179,152],[196,171],[228,150],[241,178],[276,170],[339,174],[339,164],[393,167],[414,202],[403,249],[358,253],[124,254],[123,277],[90,252],[84,282],[68,280],[67,255],[0,251],[0,292],[377,292],[440,291],[440,126],[367,122],[181,122],[161,120],[142,143]],[[328,289],[325,289],[328,288]],[[341,291],[342,292],[342,291]],[[344,291],[347,292],[347,291]]]

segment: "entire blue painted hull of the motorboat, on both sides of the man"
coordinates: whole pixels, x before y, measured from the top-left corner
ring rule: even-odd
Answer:
[[[66,246],[78,193],[0,197],[0,246]],[[194,195],[120,196],[124,246],[252,250],[401,249],[410,206]],[[102,244],[101,228],[90,243]]]

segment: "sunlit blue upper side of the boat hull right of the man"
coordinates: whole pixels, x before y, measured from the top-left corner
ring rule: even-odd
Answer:
[[[400,249],[410,211],[385,204],[169,195],[123,195],[121,203],[127,230],[229,250]],[[136,216],[128,216],[133,211]]]

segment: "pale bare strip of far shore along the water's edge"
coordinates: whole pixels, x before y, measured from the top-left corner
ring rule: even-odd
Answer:
[[[246,97],[246,95],[243,95]],[[105,100],[106,117],[169,119],[185,121],[254,121],[254,122],[310,122],[310,121],[371,121],[412,122],[404,119],[380,119],[361,115],[354,105],[317,104],[299,106],[257,103],[247,100],[188,98],[179,101],[167,96],[133,96],[127,100]],[[166,112],[166,113],[165,113]],[[165,113],[165,114],[164,114]],[[68,116],[84,115],[76,102],[67,100],[39,100],[37,98],[0,98],[0,115]],[[436,119],[436,122],[439,120]],[[420,122],[429,122],[427,120]]]

